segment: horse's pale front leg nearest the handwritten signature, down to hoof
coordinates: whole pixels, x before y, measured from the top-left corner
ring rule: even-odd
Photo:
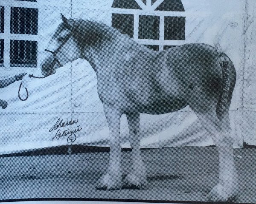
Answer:
[[[110,161],[108,173],[98,180],[95,188],[101,190],[116,190],[122,187],[120,144],[120,117],[122,113],[108,105],[104,105],[104,113],[110,133]]]

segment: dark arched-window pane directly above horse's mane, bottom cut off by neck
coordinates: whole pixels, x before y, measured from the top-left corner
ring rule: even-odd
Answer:
[[[123,34],[133,38],[134,15],[133,14],[112,14],[112,26],[119,29]]]

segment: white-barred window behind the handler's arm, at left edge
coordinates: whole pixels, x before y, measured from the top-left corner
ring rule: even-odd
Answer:
[[[30,8],[37,0],[16,1],[22,7],[12,1],[0,6],[0,66],[37,67],[38,8]]]

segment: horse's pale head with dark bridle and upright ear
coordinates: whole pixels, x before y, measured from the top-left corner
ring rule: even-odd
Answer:
[[[79,49],[73,35],[75,21],[67,19],[63,14],[61,18],[63,22],[48,43],[45,49],[47,53],[41,62],[41,71],[44,76],[55,74],[57,68],[79,58]]]

